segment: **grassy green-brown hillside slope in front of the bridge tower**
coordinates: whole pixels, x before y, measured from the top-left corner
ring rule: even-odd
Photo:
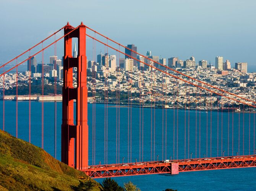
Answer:
[[[91,181],[41,148],[0,130],[0,190],[77,190]]]

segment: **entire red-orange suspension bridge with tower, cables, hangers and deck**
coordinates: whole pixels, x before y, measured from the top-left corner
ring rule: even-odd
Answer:
[[[56,34],[60,31],[64,30],[64,35],[62,37],[58,38],[56,40]],[[89,35],[86,33],[86,30],[90,30],[94,33],[94,37],[92,35]],[[100,37],[103,38],[106,42],[103,40],[99,40]],[[43,46],[43,43],[45,43],[46,40],[49,40],[49,38],[54,37],[54,41],[50,43],[47,46]],[[72,56],[72,38],[78,38],[78,56],[73,57]],[[195,132],[191,132],[190,127],[190,107],[189,102],[188,106],[185,105],[184,112],[185,112],[185,133],[184,133],[184,158],[178,157],[178,144],[179,144],[179,137],[181,135],[178,134],[179,126],[178,126],[178,110],[179,110],[179,103],[177,100],[177,114],[175,116],[175,109],[173,109],[173,124],[167,124],[166,119],[166,108],[164,108],[165,100],[163,98],[162,100],[162,119],[157,121],[154,114],[152,114],[152,100],[151,102],[151,116],[145,116],[146,119],[144,119],[143,111],[144,111],[144,100],[143,100],[143,93],[142,89],[140,88],[139,95],[139,121],[137,122],[139,125],[136,127],[133,127],[132,125],[132,91],[131,91],[131,85],[133,79],[131,78],[131,75],[128,76],[128,83],[129,83],[129,89],[128,89],[128,113],[127,113],[127,143],[125,144],[127,146],[127,156],[120,157],[120,148],[122,148],[122,141],[120,142],[120,120],[122,120],[122,116],[120,117],[120,89],[116,89],[116,127],[109,127],[108,126],[108,116],[113,115],[113,113],[108,113],[108,103],[109,103],[109,91],[107,88],[107,77],[105,76],[105,96],[104,96],[104,154],[102,154],[102,158],[104,155],[104,164],[96,164],[96,106],[95,103],[92,103],[92,127],[91,127],[91,134],[89,134],[89,127],[88,127],[88,113],[87,113],[87,95],[88,95],[88,89],[87,89],[87,57],[86,57],[86,41],[87,38],[90,38],[93,40],[93,51],[95,51],[96,42],[100,43],[105,46],[105,50],[108,52],[108,48],[112,49],[113,51],[116,51],[118,54],[123,54],[127,57],[130,57],[131,59],[134,59],[147,67],[151,68],[151,70],[156,70],[162,75],[165,75],[169,78],[176,79],[177,81],[182,81],[185,84],[188,84],[188,86],[194,86],[198,88],[199,90],[203,90],[205,92],[209,92],[211,94],[218,95],[220,97],[224,97],[225,99],[230,100],[232,103],[241,104],[243,108],[249,107],[251,110],[255,110],[255,101],[250,100],[246,97],[243,97],[241,95],[236,95],[232,92],[228,92],[225,89],[221,89],[218,87],[215,87],[209,83],[206,83],[204,81],[198,80],[196,78],[193,78],[189,75],[186,75],[185,73],[182,73],[178,70],[175,70],[173,68],[170,68],[164,64],[160,64],[159,62],[156,62],[155,60],[144,56],[143,54],[139,54],[138,52],[118,43],[117,41],[112,40],[111,38],[106,37],[105,35],[102,35],[101,33],[97,32],[96,30],[91,29],[90,27],[87,27],[83,24],[83,22],[78,25],[77,27],[71,26],[69,23],[62,27],[61,29],[57,30],[55,33],[50,35],[49,37],[45,38],[41,42],[37,43],[35,46],[32,46],[28,50],[24,51],[24,53],[20,54],[19,56],[15,57],[14,59],[11,59],[9,62],[6,62],[0,68],[2,68],[3,72],[0,73],[0,77],[2,76],[3,80],[3,131],[5,131],[5,75],[9,72],[16,73],[16,97],[18,97],[18,67],[23,64],[24,62],[31,62],[31,58],[33,56],[36,56],[37,54],[42,54],[42,96],[44,96],[44,51],[54,46],[54,55],[57,53],[57,42],[64,39],[64,57],[63,57],[63,89],[62,89],[62,132],[61,132],[61,161],[68,164],[71,167],[74,167],[78,170],[81,170],[85,172],[87,175],[93,178],[102,178],[102,177],[116,177],[116,176],[127,176],[127,175],[145,175],[145,174],[154,174],[154,173],[170,173],[170,174],[178,174],[179,172],[187,172],[187,171],[197,171],[197,170],[214,170],[214,169],[230,169],[230,168],[244,168],[244,167],[255,167],[256,166],[256,156],[255,156],[255,112],[253,112],[253,127],[251,127],[251,113],[249,115],[249,123],[248,123],[248,134],[245,132],[246,127],[246,121],[244,118],[243,112],[243,126],[240,128],[240,121],[238,124],[238,137],[234,137],[234,116],[232,115],[232,119],[230,119],[229,112],[232,114],[234,113],[233,107],[229,106],[226,108],[228,110],[228,119],[223,119],[223,116],[221,115],[221,120],[219,119],[219,113],[218,113],[218,124],[217,127],[212,127],[212,111],[210,112],[210,120],[211,125],[208,127],[208,123],[206,124],[206,156],[204,158],[201,157],[201,115],[199,113],[199,123],[197,122],[196,117],[196,124],[195,125]],[[111,44],[111,45],[110,45]],[[113,44],[113,45],[112,45]],[[115,45],[117,47],[115,47]],[[37,51],[34,54],[31,54],[31,51],[41,46],[41,49]],[[141,57],[144,57],[147,60],[150,60],[154,64],[149,64],[148,62],[143,62],[139,60],[137,57],[133,57],[129,54],[126,54],[123,51],[120,51],[120,48],[128,49],[129,51],[138,54]],[[21,62],[18,62],[18,59],[21,56],[24,56],[25,54],[29,54],[29,57],[27,59],[24,59]],[[95,56],[95,55],[94,55]],[[14,66],[11,66],[9,69],[4,69],[8,67],[12,62],[16,62]],[[161,67],[160,67],[161,66]],[[54,65],[54,68],[56,70],[56,62]],[[74,86],[74,79],[73,79],[73,68],[77,68],[77,85]],[[162,69],[164,68],[164,69]],[[93,73],[95,75],[95,73]],[[139,76],[139,80],[143,81],[143,72],[142,76]],[[96,81],[95,76],[92,76],[92,96],[96,96]],[[29,64],[29,81],[28,81],[28,87],[29,87],[29,114],[28,114],[28,129],[29,129],[29,142],[31,142],[31,64]],[[55,96],[57,94],[57,77],[54,77],[54,93]],[[178,88],[177,88],[178,91]],[[156,93],[156,92],[155,92]],[[159,93],[159,92],[158,92]],[[189,99],[189,98],[188,98]],[[75,100],[75,102],[74,102]],[[223,106],[220,111],[223,112]],[[11,108],[7,108],[8,110]],[[200,109],[199,109],[200,110]],[[165,111],[165,115],[164,115]],[[188,111],[188,116],[186,116],[186,112]],[[219,112],[219,110],[218,110]],[[141,115],[142,114],[142,115]],[[75,117],[74,117],[75,116]],[[164,119],[165,117],[165,119]],[[175,117],[177,117],[177,124],[175,124]],[[188,119],[188,121],[186,121]],[[144,120],[151,120],[151,144],[146,145],[144,143]],[[208,120],[208,114],[207,114],[207,120]],[[228,126],[223,125],[223,121],[228,120]],[[232,120],[232,127],[230,127],[230,121]],[[240,120],[240,115],[239,115]],[[18,99],[16,99],[16,137],[18,137]],[[152,124],[152,121],[154,124]],[[221,125],[219,127],[219,122],[221,121]],[[42,148],[44,148],[44,101],[42,101],[42,116],[41,116],[41,142],[42,142]],[[162,122],[162,129],[156,130],[155,123],[161,123]],[[165,124],[164,124],[165,122]],[[246,123],[246,124],[245,124]],[[186,126],[187,124],[187,126]],[[22,126],[23,124],[19,124],[19,126]],[[49,125],[49,124],[47,124]],[[167,127],[168,125],[168,127]],[[199,126],[199,129],[197,129]],[[55,102],[54,105],[54,151],[55,151],[55,158],[56,158],[56,150],[57,150],[57,103]],[[139,128],[139,134],[134,135],[134,132],[132,131],[133,128]],[[173,130],[173,137],[170,137],[167,135],[167,128],[172,128]],[[181,127],[180,127],[181,128]],[[228,142],[227,145],[224,145],[223,141],[223,129],[228,128]],[[147,129],[150,129],[147,128]],[[212,137],[212,131],[217,129],[217,136]],[[109,137],[110,131],[115,131],[115,161],[116,163],[109,164],[108,158],[108,143],[109,143]],[[159,155],[157,155],[157,160],[155,156],[155,134],[156,131],[162,131],[162,160],[159,160]],[[240,133],[241,132],[241,133]],[[102,132],[103,133],[103,132]],[[251,138],[251,134],[253,133],[253,139]],[[199,136],[198,136],[199,134]],[[231,135],[230,135],[231,134]],[[210,137],[208,136],[210,135]],[[134,162],[132,160],[132,136],[139,137],[139,159]],[[199,157],[197,157],[197,153],[194,155],[195,158],[192,158],[192,154],[190,151],[192,150],[190,148],[190,138],[191,136],[195,137],[195,151],[197,152],[199,150]],[[92,142],[89,143],[89,137],[91,137]],[[208,139],[209,137],[209,139]],[[245,138],[245,137],[248,137]],[[173,138],[173,140],[171,140]],[[217,148],[216,145],[213,145],[213,139],[217,139]],[[242,140],[240,140],[242,139]],[[173,146],[173,154],[172,159],[167,159],[167,153],[169,153],[167,149],[167,142],[172,142]],[[248,140],[248,150],[245,149],[245,142]],[[183,141],[183,140],[182,140]],[[240,142],[241,141],[241,142]],[[253,141],[253,146],[250,145],[250,143]],[[219,144],[220,142],[220,144]],[[238,142],[238,148],[234,148],[234,142]],[[198,145],[197,145],[198,144]],[[240,145],[242,144],[242,148],[240,148]],[[220,146],[221,145],[221,146]],[[231,146],[231,150],[230,149]],[[103,146],[103,145],[102,145]],[[146,146],[151,147],[151,161],[144,161],[144,152]],[[176,148],[175,148],[176,146]],[[91,152],[89,153],[89,147],[91,147]],[[221,148],[219,148],[221,147]],[[225,148],[228,148],[227,156],[224,156]],[[214,157],[212,156],[212,149],[217,149],[217,155]],[[176,153],[175,153],[176,150]],[[210,150],[208,154],[208,150]],[[240,151],[242,154],[240,154]],[[245,153],[248,151],[248,153]],[[219,155],[221,153],[221,155]],[[232,154],[231,154],[232,153]],[[235,154],[237,153],[237,154]],[[152,157],[153,156],[153,157]],[[175,158],[176,156],[176,158]],[[127,162],[124,162],[124,158],[127,159]],[[91,164],[89,165],[89,162],[91,161]],[[122,161],[122,163],[120,162]]]

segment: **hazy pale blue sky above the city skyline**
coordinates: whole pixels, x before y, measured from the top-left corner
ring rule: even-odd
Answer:
[[[232,66],[248,62],[248,72],[256,72],[255,7],[255,0],[0,0],[0,63],[67,21],[83,21],[123,45],[135,44],[142,54],[151,50],[181,60],[193,55],[211,64],[223,56]]]

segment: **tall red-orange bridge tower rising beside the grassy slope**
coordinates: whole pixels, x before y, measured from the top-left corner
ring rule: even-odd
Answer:
[[[75,30],[65,26],[62,89],[62,162],[78,170],[88,166],[88,119],[86,86],[86,27],[79,25]],[[72,38],[78,38],[78,56],[72,57]],[[77,68],[77,87],[73,87],[73,68]],[[76,119],[74,120],[74,100]]]

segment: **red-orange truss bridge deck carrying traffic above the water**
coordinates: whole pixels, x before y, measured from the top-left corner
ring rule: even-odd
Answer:
[[[92,178],[118,177],[179,172],[256,167],[256,155],[229,156],[224,158],[198,158],[152,161],[141,163],[109,164],[89,166],[84,172]]]

